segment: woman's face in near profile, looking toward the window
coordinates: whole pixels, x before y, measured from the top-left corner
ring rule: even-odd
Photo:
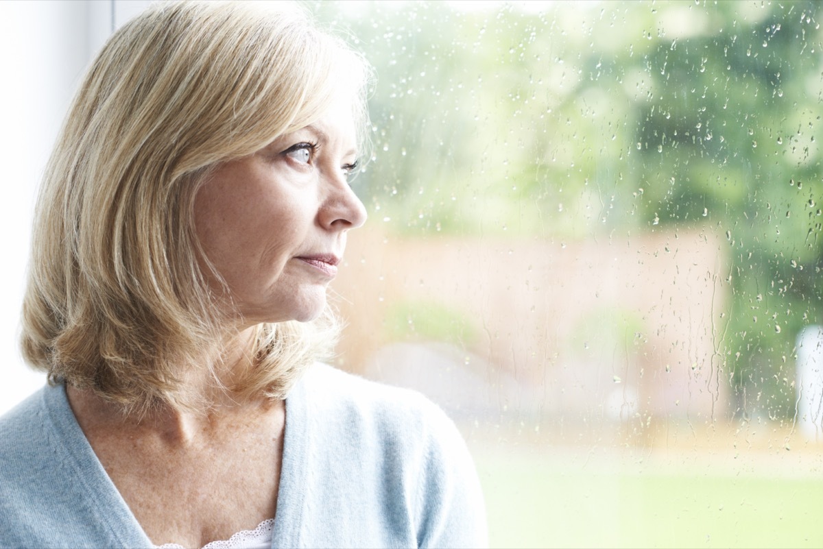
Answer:
[[[348,105],[216,169],[198,191],[203,251],[228,284],[244,326],[310,321],[365,208],[346,175],[356,163]]]

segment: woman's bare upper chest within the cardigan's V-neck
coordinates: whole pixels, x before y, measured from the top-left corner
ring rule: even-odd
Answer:
[[[277,510],[282,437],[237,433],[186,449],[140,441],[95,451],[156,545],[227,540]]]

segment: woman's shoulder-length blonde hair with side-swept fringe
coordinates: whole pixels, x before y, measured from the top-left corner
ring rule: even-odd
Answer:
[[[314,122],[340,88],[362,131],[368,79],[358,53],[294,6],[160,3],[114,33],[45,170],[26,361],[128,411],[201,407],[184,374],[208,367],[216,379],[226,328],[198,264],[213,270],[194,232],[198,188],[217,164]],[[337,334],[328,307],[256,331],[254,367],[230,387],[246,397],[284,398]]]

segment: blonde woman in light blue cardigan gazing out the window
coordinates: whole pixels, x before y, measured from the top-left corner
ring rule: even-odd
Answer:
[[[477,547],[425,399],[316,363],[365,210],[365,62],[294,8],[160,4],[93,63],[36,211],[0,546]]]

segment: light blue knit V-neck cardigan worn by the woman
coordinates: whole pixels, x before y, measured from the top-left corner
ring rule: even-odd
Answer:
[[[434,404],[331,367],[286,399],[272,547],[482,547],[463,439]],[[0,547],[151,547],[63,385],[0,418]]]

